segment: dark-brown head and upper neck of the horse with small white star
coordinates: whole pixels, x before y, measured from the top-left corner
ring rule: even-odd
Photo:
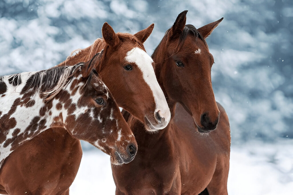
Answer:
[[[185,25],[186,13],[178,15],[152,57],[169,101],[183,105],[199,132],[209,132],[217,127],[220,112],[211,82],[214,58],[205,39],[223,18],[196,29]]]

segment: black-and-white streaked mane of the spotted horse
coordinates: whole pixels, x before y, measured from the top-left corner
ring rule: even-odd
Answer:
[[[26,81],[21,94],[25,92],[40,92],[44,96],[45,101],[50,101],[64,86],[74,79],[74,74],[80,70],[83,64],[78,63],[74,66],[61,66],[38,71]],[[14,75],[11,77],[14,77]]]

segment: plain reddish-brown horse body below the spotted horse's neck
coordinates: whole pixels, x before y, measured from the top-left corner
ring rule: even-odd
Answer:
[[[41,139],[43,137],[45,139]],[[63,153],[59,152],[60,148]],[[1,194],[23,194],[26,191],[31,194],[69,193],[68,186],[74,181],[82,156],[79,139],[63,128],[52,128],[16,151],[7,157],[8,161],[6,159],[3,164],[5,168],[0,172],[0,183],[5,186]],[[28,151],[29,154],[19,156],[19,153]],[[15,161],[9,163],[11,159]]]

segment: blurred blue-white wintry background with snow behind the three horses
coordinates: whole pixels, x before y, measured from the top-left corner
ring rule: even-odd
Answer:
[[[0,0],[0,75],[50,68],[74,49],[155,23],[152,54],[177,15],[199,28],[222,17],[207,38],[216,100],[231,125],[229,194],[293,191],[292,0]],[[114,194],[109,157],[83,142],[71,194]]]

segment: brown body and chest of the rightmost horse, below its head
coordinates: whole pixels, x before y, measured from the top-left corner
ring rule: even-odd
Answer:
[[[193,118],[180,104],[173,108],[176,112],[169,125],[156,134],[143,132],[143,125],[130,117],[139,150],[131,163],[112,166],[116,194],[200,194],[211,180],[215,191],[208,188],[209,193],[222,194],[229,170],[230,133],[225,110],[217,105],[219,124],[209,135],[195,133]]]

